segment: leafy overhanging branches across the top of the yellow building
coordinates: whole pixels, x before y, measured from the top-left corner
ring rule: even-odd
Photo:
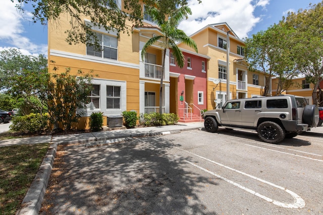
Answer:
[[[13,0],[11,1],[13,2]],[[188,0],[143,0],[142,2],[147,7],[158,8],[159,18],[164,20],[178,7],[188,4]],[[122,3],[120,6],[118,5],[119,1],[114,0],[18,0],[16,8],[24,13],[26,4],[31,4],[33,21],[40,22],[42,25],[47,25],[48,21],[59,23],[57,21],[60,16],[67,14],[72,28],[65,30],[65,33],[68,34],[66,41],[69,44],[76,44],[85,43],[91,39],[96,40],[95,34],[91,31],[92,26],[84,23],[82,16],[86,16],[94,26],[107,31],[114,29],[117,32],[129,34],[132,27],[142,25],[143,9],[140,1],[123,0]],[[131,21],[133,25],[126,25],[127,20]]]

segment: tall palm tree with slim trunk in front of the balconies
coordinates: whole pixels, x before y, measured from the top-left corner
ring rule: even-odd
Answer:
[[[184,62],[185,62],[184,54],[182,53],[180,48],[176,45],[176,42],[184,43],[190,46],[191,48],[193,48],[196,52],[197,52],[197,46],[194,40],[188,37],[184,31],[177,29],[178,24],[184,19],[187,19],[188,14],[189,15],[192,14],[190,8],[186,6],[179,8],[176,12],[171,14],[171,17],[168,20],[161,20],[160,13],[156,8],[150,9],[149,12],[150,12],[149,15],[158,25],[162,35],[153,36],[146,42],[146,44],[142,48],[141,58],[142,58],[142,61],[144,61],[144,56],[148,48],[156,42],[158,42],[158,44],[164,48],[164,58],[163,58],[163,65],[161,69],[160,90],[159,90],[159,114],[161,114],[162,113],[161,106],[163,103],[162,102],[163,79],[165,74],[165,58],[166,58],[167,49],[169,48],[173,49],[173,54],[174,54],[176,63],[178,64],[178,66],[183,68]]]

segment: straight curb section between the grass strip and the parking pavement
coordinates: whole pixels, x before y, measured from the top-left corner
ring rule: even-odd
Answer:
[[[48,185],[50,172],[57,152],[57,143],[49,146],[38,172],[22,201],[22,208],[16,212],[18,215],[37,215]]]

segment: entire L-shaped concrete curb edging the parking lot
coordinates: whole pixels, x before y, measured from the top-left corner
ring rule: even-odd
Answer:
[[[45,195],[45,191],[49,182],[51,169],[55,160],[57,146],[65,144],[85,144],[85,147],[112,144],[118,142],[124,142],[132,140],[133,137],[140,136],[157,136],[166,135],[172,133],[180,133],[181,131],[201,129],[200,127],[189,127],[182,129],[175,129],[169,131],[148,131],[148,132],[137,132],[135,134],[121,134],[118,137],[89,137],[88,139],[77,139],[77,140],[57,140],[52,142],[43,159],[39,170],[28,189],[28,192],[22,202],[22,208],[16,212],[16,215],[37,215],[41,208],[41,203]]]

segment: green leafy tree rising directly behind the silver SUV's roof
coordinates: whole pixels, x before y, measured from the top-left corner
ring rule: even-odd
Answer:
[[[268,95],[272,76],[279,77],[278,94],[290,84],[289,80],[297,76],[292,60],[292,43],[289,41],[294,34],[295,31],[275,24],[246,39],[245,56],[250,70],[262,71],[266,77],[263,96]]]

